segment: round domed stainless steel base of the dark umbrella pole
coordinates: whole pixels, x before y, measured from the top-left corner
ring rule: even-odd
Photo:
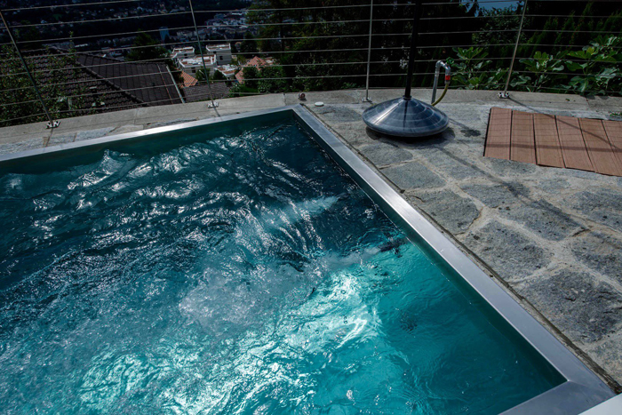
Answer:
[[[396,137],[427,137],[443,132],[450,119],[440,109],[413,98],[387,100],[365,109],[371,130]]]

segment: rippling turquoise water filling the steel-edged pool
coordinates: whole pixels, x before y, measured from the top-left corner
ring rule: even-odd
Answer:
[[[0,411],[496,413],[562,381],[293,120],[245,129],[0,175]]]

